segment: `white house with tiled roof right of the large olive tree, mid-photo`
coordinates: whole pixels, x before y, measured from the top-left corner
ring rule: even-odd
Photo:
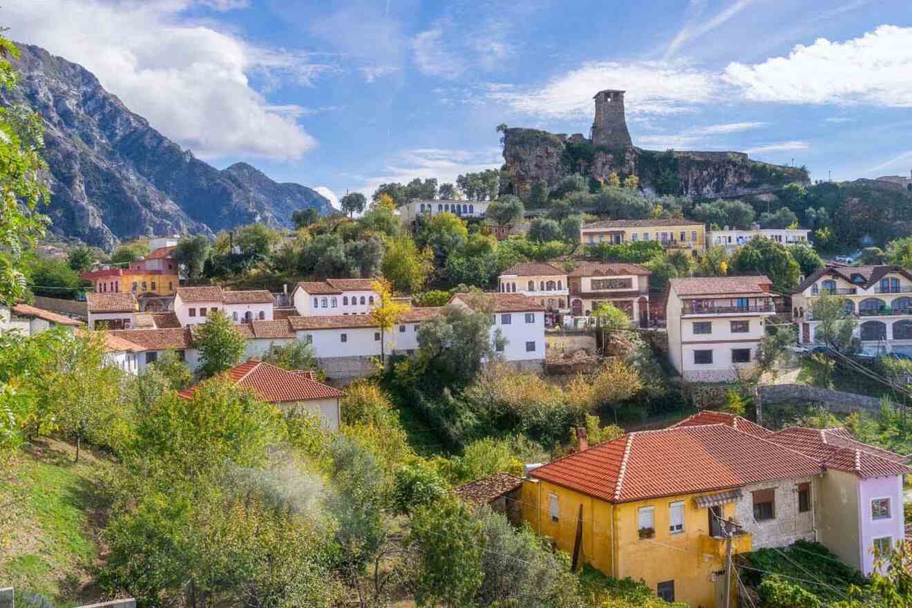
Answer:
[[[489,299],[490,298],[490,299]],[[497,352],[523,370],[544,369],[544,306],[523,294],[454,294],[451,305],[492,310],[491,339],[499,330]]]

